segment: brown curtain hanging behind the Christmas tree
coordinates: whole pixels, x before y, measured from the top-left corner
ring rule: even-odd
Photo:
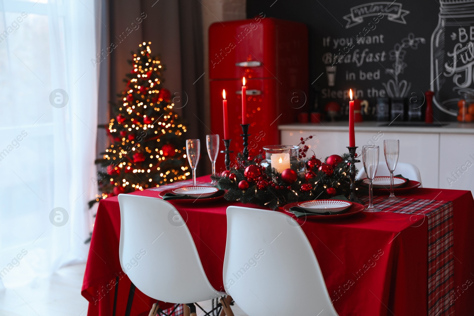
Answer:
[[[105,31],[101,41],[103,89],[100,90],[99,122],[109,121],[109,104],[103,95],[116,101],[117,93],[125,88],[123,79],[130,71],[127,62],[131,59],[130,52],[136,51],[142,42],[152,42],[152,53],[160,54],[165,65],[164,88],[170,90],[175,98],[175,111],[188,126],[186,138],[201,139],[201,163],[197,172],[210,173],[209,163],[202,163],[207,156],[205,135],[209,129],[201,123],[205,121],[204,76],[199,78],[204,73],[201,4],[198,0],[104,1],[107,12],[102,17]],[[112,43],[115,44],[113,49],[110,48]]]

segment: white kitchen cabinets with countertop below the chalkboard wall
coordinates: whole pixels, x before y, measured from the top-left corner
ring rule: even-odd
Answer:
[[[347,122],[292,124],[279,126],[282,144],[298,144],[300,137],[314,135],[306,144],[323,160],[331,154],[346,153],[349,143]],[[400,140],[399,162],[415,164],[423,187],[474,192],[474,125],[449,123],[444,127],[378,126],[377,122],[356,123],[356,145],[380,146],[380,168],[387,168],[384,139]],[[360,158],[362,160],[362,158]],[[468,163],[469,161],[469,163]],[[358,169],[363,168],[358,163]],[[457,169],[459,168],[459,169]],[[396,171],[395,171],[396,172]],[[453,181],[448,181],[447,178]]]

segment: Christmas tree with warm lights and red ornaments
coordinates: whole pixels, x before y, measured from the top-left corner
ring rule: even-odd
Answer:
[[[119,193],[159,187],[186,179],[190,174],[186,160],[186,127],[173,113],[171,93],[162,88],[162,65],[152,56],[151,42],[139,45],[133,53],[133,66],[127,88],[111,107],[105,127],[110,145],[101,153],[99,188],[93,202]]]

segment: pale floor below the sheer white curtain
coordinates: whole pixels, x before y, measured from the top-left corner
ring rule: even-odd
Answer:
[[[85,264],[68,266],[47,279],[0,290],[0,316],[86,316],[88,302],[81,295],[84,270]],[[211,303],[199,304],[206,309]],[[232,310],[235,316],[246,316],[237,305]]]

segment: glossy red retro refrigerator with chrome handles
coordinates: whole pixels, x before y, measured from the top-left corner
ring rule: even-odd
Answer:
[[[216,22],[209,28],[211,130],[224,138],[222,90],[228,100],[231,161],[243,150],[242,77],[247,86],[248,147],[280,144],[278,125],[308,110],[308,30],[304,24],[263,15]],[[224,145],[221,142],[221,150]],[[216,170],[224,170],[219,154]]]

